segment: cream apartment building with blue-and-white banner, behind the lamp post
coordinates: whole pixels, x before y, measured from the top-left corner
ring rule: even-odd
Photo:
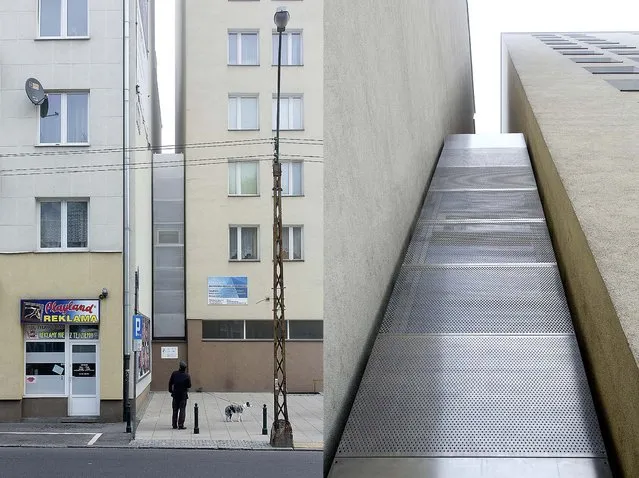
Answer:
[[[322,2],[189,0],[179,2],[176,47],[184,222],[156,227],[154,247],[156,280],[182,270],[185,285],[175,279],[171,296],[158,282],[154,358],[166,368],[162,355],[175,354],[162,350],[178,347],[196,389],[273,389],[278,7],[290,12],[280,116],[288,390],[322,389]]]

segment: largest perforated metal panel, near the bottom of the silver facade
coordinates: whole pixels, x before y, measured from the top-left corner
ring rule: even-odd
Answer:
[[[605,457],[572,336],[377,338],[339,456]]]

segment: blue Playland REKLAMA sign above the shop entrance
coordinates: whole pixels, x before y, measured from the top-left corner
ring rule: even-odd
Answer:
[[[99,300],[26,299],[20,301],[20,322],[27,324],[97,324]]]

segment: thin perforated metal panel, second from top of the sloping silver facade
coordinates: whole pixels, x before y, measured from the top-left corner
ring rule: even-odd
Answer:
[[[442,168],[521,167],[530,166],[530,158],[525,148],[451,148],[442,150],[438,166]]]

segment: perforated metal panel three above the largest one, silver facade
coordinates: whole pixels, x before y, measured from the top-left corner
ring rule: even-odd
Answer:
[[[429,191],[419,219],[543,219],[537,191]]]

